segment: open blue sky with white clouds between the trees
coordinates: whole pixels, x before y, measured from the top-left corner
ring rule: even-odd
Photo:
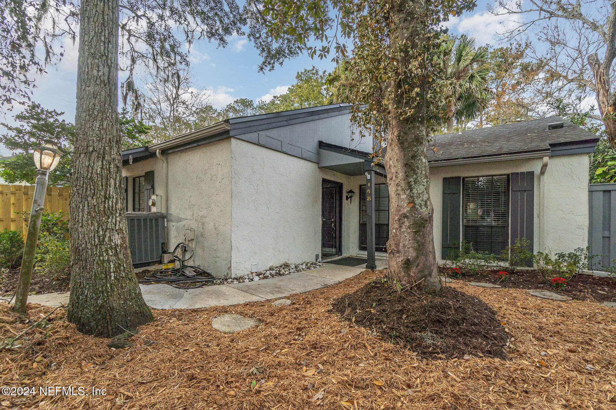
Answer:
[[[477,44],[495,44],[498,42],[496,33],[508,26],[506,18],[490,14],[487,2],[479,1],[472,13],[456,17],[448,23],[454,34],[465,33],[477,39]],[[77,52],[72,44],[65,44],[65,58],[56,66],[49,66],[47,74],[36,79],[33,101],[47,109],[64,111],[64,119],[75,121],[75,92]],[[192,70],[195,73],[195,83],[201,89],[211,90],[210,103],[216,108],[232,102],[236,98],[250,98],[257,101],[261,98],[271,98],[286,90],[295,82],[295,75],[312,65],[319,69],[330,71],[334,65],[329,60],[312,60],[301,55],[294,60],[286,61],[282,67],[265,74],[259,73],[257,66],[261,62],[259,54],[243,37],[232,37],[229,47],[217,49],[215,44],[208,42],[196,43],[192,47]],[[121,74],[120,74],[121,75]],[[12,114],[6,114],[6,121],[11,121]],[[0,127],[0,133],[4,133]],[[0,144],[0,155],[10,155]]]

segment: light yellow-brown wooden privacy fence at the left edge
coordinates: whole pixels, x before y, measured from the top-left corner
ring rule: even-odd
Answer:
[[[69,191],[68,187],[47,187],[45,211],[49,213],[62,211],[68,219]],[[33,196],[33,185],[0,184],[0,231],[5,228],[15,231],[21,229],[25,238],[26,226],[23,223],[23,212],[30,212]]]

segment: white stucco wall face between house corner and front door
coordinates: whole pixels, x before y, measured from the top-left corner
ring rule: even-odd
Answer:
[[[318,165],[231,138],[231,271],[234,276],[321,252]]]

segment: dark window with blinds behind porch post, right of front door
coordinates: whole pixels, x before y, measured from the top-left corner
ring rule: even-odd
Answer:
[[[387,251],[389,240],[389,189],[387,184],[375,184],[375,250]],[[366,186],[359,187],[359,248],[366,245]]]

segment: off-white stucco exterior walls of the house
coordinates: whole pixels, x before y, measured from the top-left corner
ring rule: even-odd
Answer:
[[[263,270],[287,261],[313,261],[321,250],[322,178],[342,183],[342,254],[362,254],[359,187],[365,184],[363,176],[318,168],[309,160],[237,138],[165,157],[169,162],[169,246],[184,240],[185,229],[192,227],[192,262],[217,277],[244,275],[255,263],[257,270]],[[431,167],[437,259],[442,261],[442,180],[448,176],[535,171],[534,251],[569,252],[587,246],[588,162],[588,154],[549,158],[543,177],[545,216],[540,212],[541,158]],[[149,170],[155,171],[156,194],[164,195],[165,167],[160,159],[128,165],[123,174],[139,176]],[[132,209],[132,180],[128,182]],[[349,189],[355,191],[352,202],[344,198]]]

